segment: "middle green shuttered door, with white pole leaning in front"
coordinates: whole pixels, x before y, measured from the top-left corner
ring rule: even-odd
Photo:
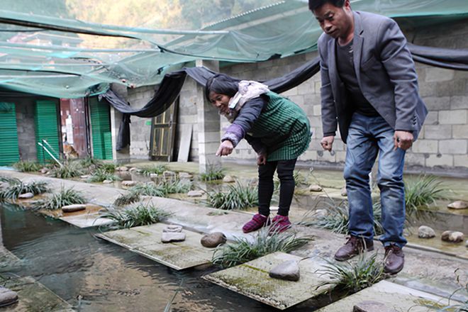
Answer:
[[[58,103],[50,100],[35,101],[34,122],[38,162],[43,163],[52,160],[52,157],[45,151],[45,148],[58,159],[60,152]],[[45,144],[45,141],[49,144]],[[38,143],[43,144],[45,148],[41,147]]]

